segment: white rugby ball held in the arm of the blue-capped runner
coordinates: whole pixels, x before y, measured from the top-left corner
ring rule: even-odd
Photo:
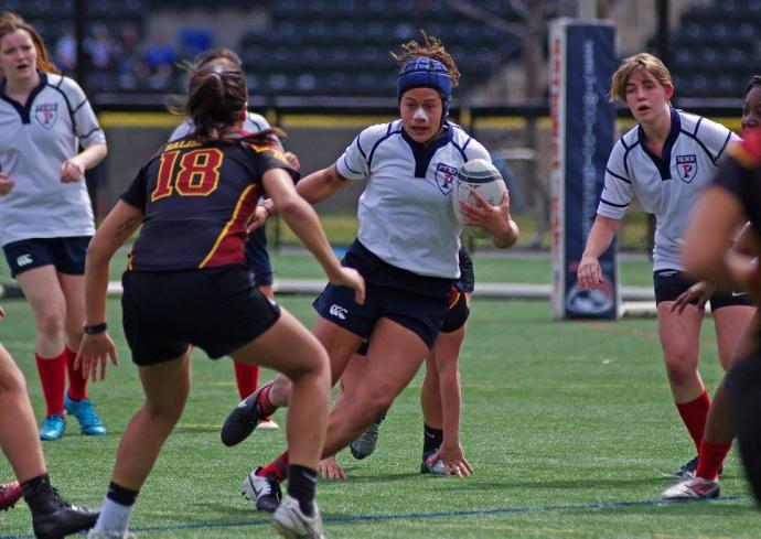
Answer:
[[[473,191],[478,191],[492,206],[499,206],[502,202],[502,195],[507,191],[500,171],[485,159],[473,159],[460,168],[454,182],[452,204],[454,205],[454,215],[467,234],[474,238],[487,238],[489,231],[480,226],[465,225],[463,223],[464,217],[460,213],[460,201],[473,206],[478,204]]]

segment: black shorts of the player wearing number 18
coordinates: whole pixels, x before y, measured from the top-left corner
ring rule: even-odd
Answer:
[[[173,359],[190,343],[217,359],[280,317],[280,308],[259,292],[245,266],[126,271],[121,282],[125,336],[138,365]]]

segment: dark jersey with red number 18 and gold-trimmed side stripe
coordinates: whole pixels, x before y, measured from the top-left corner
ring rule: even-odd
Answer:
[[[245,263],[246,223],[270,169],[298,173],[275,144],[165,144],[121,195],[143,213],[130,255],[135,271],[174,271]]]

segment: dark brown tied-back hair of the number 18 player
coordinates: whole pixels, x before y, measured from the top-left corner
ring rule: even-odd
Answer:
[[[236,126],[245,112],[248,88],[239,64],[229,58],[196,60],[184,65],[190,78],[187,97],[172,98],[170,112],[191,118],[195,138],[212,141],[276,142],[272,136],[283,137],[277,128],[244,136]]]

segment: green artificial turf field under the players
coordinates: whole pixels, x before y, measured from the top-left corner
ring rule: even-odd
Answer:
[[[483,278],[495,272],[492,265],[505,261],[482,263],[476,258],[475,263]],[[522,271],[538,274],[539,282],[548,274],[530,270],[530,262],[514,266],[525,266]],[[309,273],[296,271],[301,272]],[[624,283],[641,280],[645,278],[630,274]],[[279,301],[310,325],[311,300],[283,295]],[[0,341],[26,374],[40,417],[29,306],[22,300],[2,305],[8,317],[0,324]],[[461,438],[474,475],[457,479],[418,473],[418,374],[383,423],[376,453],[365,461],[341,453],[350,478],[320,483],[328,537],[759,537],[759,514],[733,452],[719,500],[658,500],[671,484],[662,475],[692,459],[695,450],[671,403],[655,321],[554,322],[549,311],[544,301],[474,299],[461,354]],[[109,368],[107,379],[90,387],[109,434],[83,436],[72,419],[61,441],[44,444],[54,484],[65,497],[89,505],[101,502],[119,435],[141,402],[117,299],[109,300],[109,320],[121,366]],[[712,392],[720,368],[711,320],[706,322],[701,373]],[[229,360],[213,363],[196,351],[185,413],[138,498],[131,522],[138,537],[274,535],[268,516],[256,513],[239,493],[253,466],[279,454],[285,433],[257,432],[237,448],[224,448],[218,430],[236,402]],[[285,412],[275,419],[282,425]],[[3,460],[0,482],[11,476]],[[23,503],[0,514],[0,538],[8,537],[31,537]]]

